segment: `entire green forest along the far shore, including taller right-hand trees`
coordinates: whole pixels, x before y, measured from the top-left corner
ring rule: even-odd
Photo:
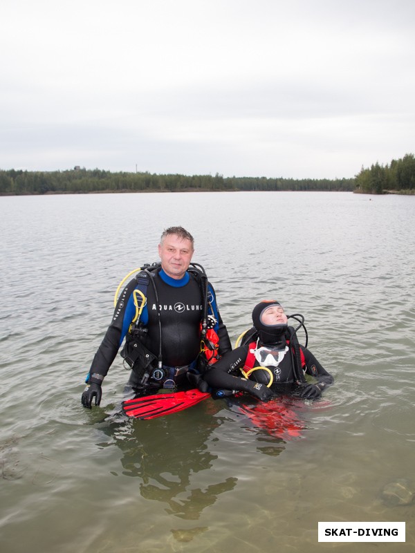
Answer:
[[[293,178],[223,177],[222,175],[158,175],[104,171],[75,167],[66,171],[0,169],[0,196],[28,194],[91,194],[104,192],[185,191],[356,191],[384,194],[415,190],[414,154],[378,163],[360,171],[356,178],[295,180]]]

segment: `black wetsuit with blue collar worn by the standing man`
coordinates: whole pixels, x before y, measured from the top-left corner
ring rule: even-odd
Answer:
[[[169,368],[190,366],[194,364],[201,348],[200,323],[203,305],[199,283],[194,274],[190,272],[186,272],[183,279],[177,280],[158,269],[154,271],[154,277],[151,278],[154,278],[158,302],[154,288],[149,283],[146,292],[147,304],[140,317],[142,327],[147,331],[143,333],[140,342],[154,354],[156,359],[158,358],[160,344],[158,317],[160,317],[163,366]],[[136,306],[133,301],[133,290],[136,288],[137,281],[132,279],[122,289],[111,324],[93,358],[88,382],[102,382],[124,337],[129,332],[131,321],[136,314]],[[210,284],[209,297],[217,320],[219,353],[223,355],[231,350],[230,339],[216,308],[215,294]],[[140,372],[139,366],[134,366],[133,369],[133,373]],[[138,377],[133,373],[130,383],[134,386],[138,384]],[[159,384],[163,384],[163,379],[160,379]]]

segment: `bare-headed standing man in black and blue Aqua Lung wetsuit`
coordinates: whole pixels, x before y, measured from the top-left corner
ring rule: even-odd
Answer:
[[[141,295],[139,298],[142,311],[138,325],[132,323],[138,311],[134,296],[138,294],[140,275],[122,289],[111,324],[86,378],[86,388],[82,393],[84,407],[91,409],[94,397],[95,405],[100,404],[102,380],[124,337],[126,344],[121,353],[132,368],[128,382],[130,395],[149,393],[162,387],[189,387],[190,374],[197,380],[203,370],[198,358],[206,295],[210,321],[219,337],[218,353],[223,355],[231,350],[212,285],[205,280],[208,288],[204,294],[199,275],[188,271],[193,253],[194,239],[183,227],[170,227],[163,232],[158,245],[160,265],[151,273],[142,273],[148,285],[145,297]]]

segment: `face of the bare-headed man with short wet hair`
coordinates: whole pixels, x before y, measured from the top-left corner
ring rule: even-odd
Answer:
[[[192,261],[192,242],[187,238],[182,240],[177,234],[167,234],[158,245],[158,255],[164,272],[173,279],[181,279]]]

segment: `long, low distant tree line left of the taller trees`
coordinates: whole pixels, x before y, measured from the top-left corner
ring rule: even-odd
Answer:
[[[75,167],[66,171],[0,169],[0,196],[24,194],[89,194],[93,192],[180,191],[353,191],[354,178],[301,179],[111,173]]]

